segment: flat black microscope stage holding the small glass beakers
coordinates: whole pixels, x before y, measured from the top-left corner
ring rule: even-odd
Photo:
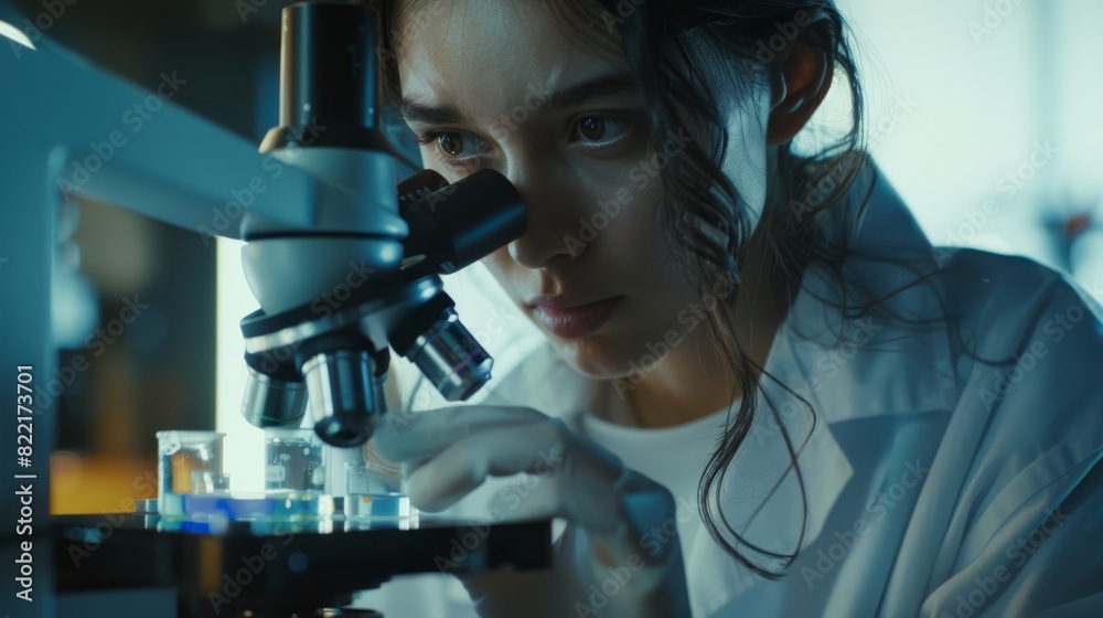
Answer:
[[[394,575],[552,563],[552,522],[420,515],[352,522],[205,524],[115,513],[53,518],[58,592],[174,587],[181,616],[334,607]],[[92,568],[88,568],[88,567]],[[283,614],[271,608],[283,608]],[[269,608],[266,612],[265,608]],[[253,611],[249,614],[248,611]]]

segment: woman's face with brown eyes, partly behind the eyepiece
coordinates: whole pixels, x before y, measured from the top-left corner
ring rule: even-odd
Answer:
[[[417,2],[397,33],[404,113],[426,168],[513,182],[527,230],[484,264],[576,370],[619,377],[705,331],[655,221],[658,170],[689,138],[651,148],[624,58],[572,43],[545,4]]]

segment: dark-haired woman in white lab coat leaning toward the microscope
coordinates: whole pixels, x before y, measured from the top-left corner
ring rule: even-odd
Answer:
[[[485,265],[548,344],[374,438],[422,509],[529,472],[492,512],[566,521],[552,569],[464,578],[480,615],[1103,605],[1100,313],[1028,260],[932,253],[861,153],[829,0],[379,9],[424,164],[528,207]],[[854,128],[799,156],[833,83]]]

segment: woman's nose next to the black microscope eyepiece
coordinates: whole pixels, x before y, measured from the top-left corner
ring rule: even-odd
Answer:
[[[583,216],[585,198],[571,191],[577,183],[554,174],[511,173],[507,178],[521,194],[527,215],[525,233],[510,243],[510,256],[533,269],[580,257],[585,248],[577,246],[578,220]]]

